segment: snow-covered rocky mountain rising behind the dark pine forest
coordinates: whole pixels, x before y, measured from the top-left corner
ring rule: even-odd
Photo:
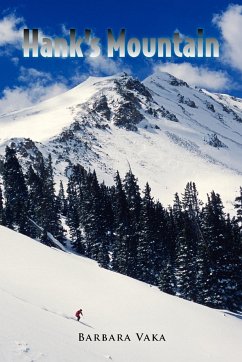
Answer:
[[[131,166],[165,205],[190,180],[200,197],[215,189],[232,207],[241,186],[242,99],[190,87],[167,73],[90,77],[68,92],[0,116],[0,154],[23,164],[51,153],[57,178],[72,163],[113,183]],[[40,153],[41,152],[41,153]],[[1,165],[0,165],[1,166]]]

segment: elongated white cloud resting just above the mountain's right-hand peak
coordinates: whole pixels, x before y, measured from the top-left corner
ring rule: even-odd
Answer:
[[[164,63],[155,65],[155,71],[167,72],[176,78],[186,81],[192,86],[207,88],[214,91],[230,89],[231,80],[223,71],[210,70],[206,67],[190,63]]]

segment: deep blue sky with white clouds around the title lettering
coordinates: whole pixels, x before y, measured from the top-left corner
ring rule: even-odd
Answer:
[[[217,17],[216,17],[217,15]],[[127,30],[128,37],[170,37],[175,30],[196,37],[204,28],[221,44],[219,59],[24,58],[22,28],[63,36],[91,28],[105,43],[106,30]],[[0,4],[0,113],[58,94],[88,75],[128,70],[143,79],[154,70],[185,77],[193,85],[242,97],[242,2],[235,1],[8,1]],[[12,108],[11,108],[12,107]]]

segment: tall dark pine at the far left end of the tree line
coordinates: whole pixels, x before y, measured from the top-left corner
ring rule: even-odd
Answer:
[[[30,235],[28,220],[28,190],[16,151],[6,147],[3,167],[6,226]]]

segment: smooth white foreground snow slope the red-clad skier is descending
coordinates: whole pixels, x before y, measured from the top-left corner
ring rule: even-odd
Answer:
[[[161,293],[0,226],[1,362],[239,362],[241,316]],[[82,307],[77,323],[73,313]],[[131,342],[79,342],[79,333]],[[166,341],[138,342],[136,333]]]

